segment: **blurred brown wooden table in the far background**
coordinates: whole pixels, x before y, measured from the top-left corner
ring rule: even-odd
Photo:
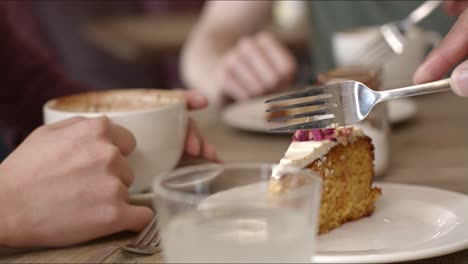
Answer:
[[[198,14],[131,15],[100,18],[84,28],[85,38],[109,54],[130,62],[156,59],[160,54],[179,51],[198,20]],[[309,31],[304,28],[268,30],[293,50],[308,48]]]

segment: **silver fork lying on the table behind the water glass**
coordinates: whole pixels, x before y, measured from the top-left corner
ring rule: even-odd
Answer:
[[[102,263],[117,250],[124,250],[143,255],[154,255],[161,251],[159,243],[161,238],[159,236],[158,215],[155,214],[153,220],[141,231],[138,237],[126,246],[113,246],[99,251],[97,254],[91,256],[83,263]]]

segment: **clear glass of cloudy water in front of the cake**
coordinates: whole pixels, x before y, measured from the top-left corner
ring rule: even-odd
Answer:
[[[153,187],[165,261],[310,262],[320,177],[275,166],[208,164],[157,177]]]

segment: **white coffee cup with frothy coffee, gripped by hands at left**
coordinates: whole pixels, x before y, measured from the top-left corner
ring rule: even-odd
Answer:
[[[155,89],[122,89],[77,94],[50,100],[44,105],[44,122],[74,116],[109,119],[130,130],[137,146],[129,155],[135,180],[129,191],[151,188],[152,179],[173,169],[184,149],[188,113],[180,92]]]

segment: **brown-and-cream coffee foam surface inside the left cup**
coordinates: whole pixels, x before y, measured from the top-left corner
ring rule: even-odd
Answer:
[[[60,97],[49,107],[66,112],[101,113],[152,109],[183,101],[182,93],[176,91],[107,90]]]

